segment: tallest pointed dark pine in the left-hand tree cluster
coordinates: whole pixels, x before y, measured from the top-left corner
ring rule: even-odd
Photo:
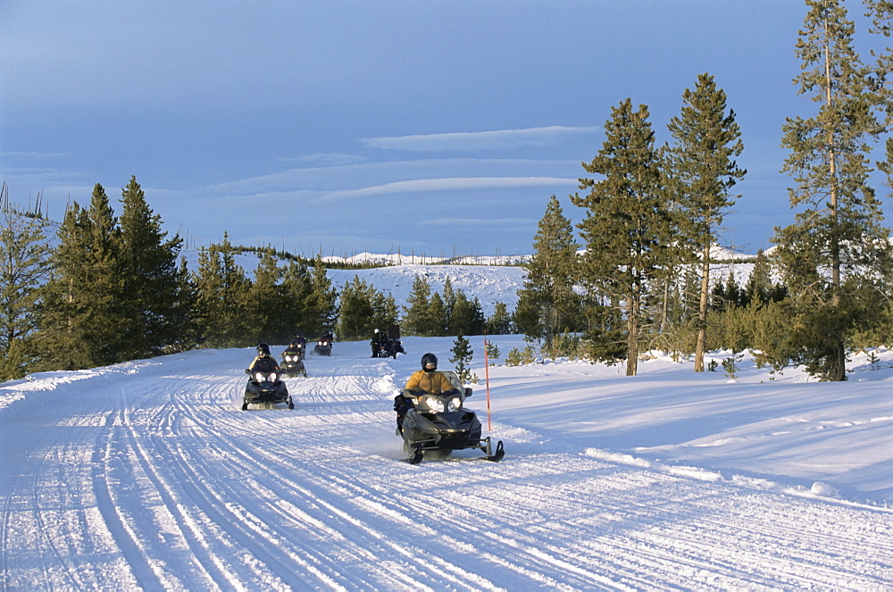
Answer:
[[[136,177],[122,189],[121,202],[121,302],[125,337],[124,359],[160,354],[178,340],[180,278],[177,257],[182,239],[165,240],[161,216],[146,204]]]

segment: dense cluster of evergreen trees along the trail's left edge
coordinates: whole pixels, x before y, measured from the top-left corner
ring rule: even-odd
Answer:
[[[5,187],[0,202],[0,379],[196,346],[287,343],[334,325],[338,294],[320,259],[312,269],[280,267],[270,249],[251,280],[224,235],[189,271],[177,263],[182,240],[167,238],[135,178],[122,189],[120,217],[96,184],[88,207],[67,208],[55,241],[39,204],[24,210]]]

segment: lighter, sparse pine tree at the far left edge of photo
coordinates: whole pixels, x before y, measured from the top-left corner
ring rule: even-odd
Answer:
[[[24,376],[37,361],[38,288],[52,268],[49,221],[9,202],[0,189],[0,382]]]

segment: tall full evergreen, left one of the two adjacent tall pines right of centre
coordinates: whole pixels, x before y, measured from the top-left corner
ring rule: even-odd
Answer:
[[[666,246],[670,235],[670,207],[663,195],[662,166],[655,150],[655,136],[648,121],[647,106],[633,111],[629,98],[612,109],[605,123],[606,139],[591,163],[583,163],[589,173],[602,179],[580,179],[587,196],[572,196],[572,202],[588,211],[580,223],[587,252],[582,278],[588,289],[589,305],[605,302],[623,306],[626,373],[638,371],[641,331],[647,319],[649,280],[667,264]],[[613,340],[613,331],[590,326],[590,337]],[[616,344],[605,344],[610,348]]]

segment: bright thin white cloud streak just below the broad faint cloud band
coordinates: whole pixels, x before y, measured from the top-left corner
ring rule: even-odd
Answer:
[[[451,177],[447,179],[413,179],[395,181],[373,187],[335,191],[321,196],[321,201],[340,201],[356,197],[380,196],[396,193],[428,191],[464,191],[468,189],[496,189],[521,187],[576,186],[578,179],[563,177]]]

